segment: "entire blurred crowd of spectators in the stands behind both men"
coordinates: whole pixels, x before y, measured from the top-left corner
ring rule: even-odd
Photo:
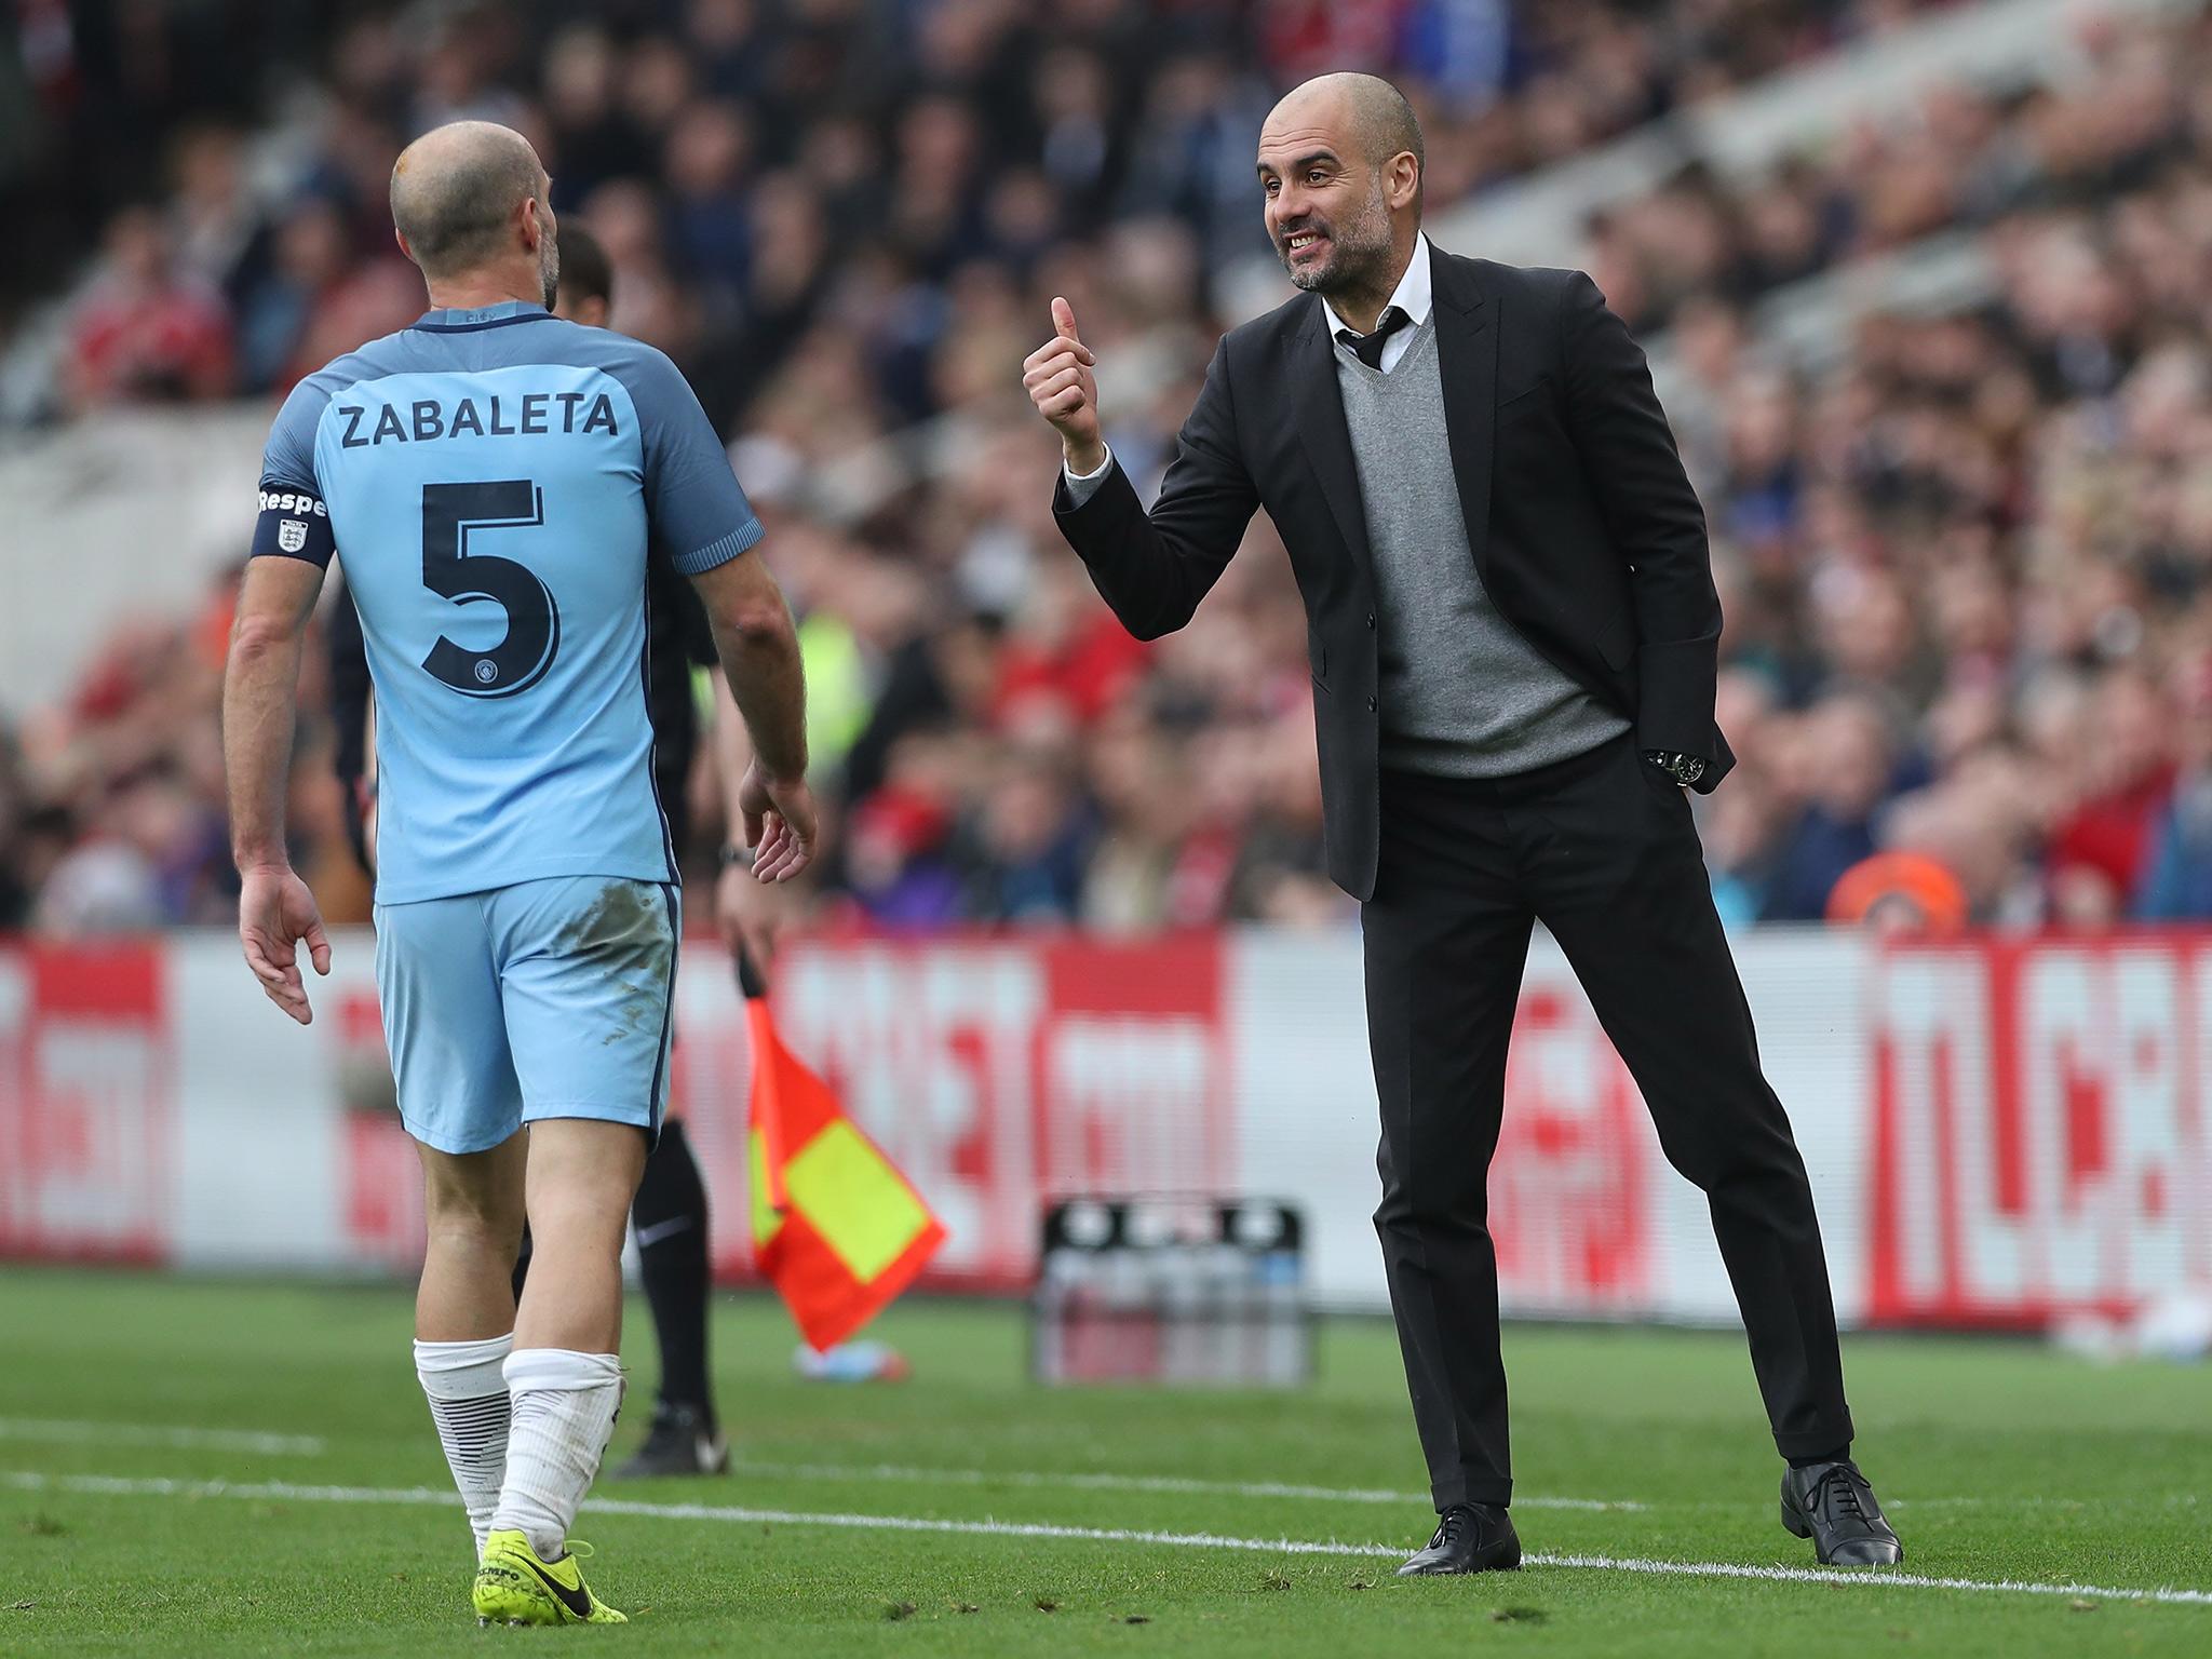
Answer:
[[[0,279],[0,416],[274,396],[405,325],[392,155],[509,122],[608,246],[615,327],[686,367],[770,524],[834,807],[823,914],[1332,922],[1281,549],[1256,522],[1188,630],[1119,630],[1020,396],[1046,296],[1157,478],[1223,325],[1208,276],[1265,246],[1250,157],[1283,86],[1400,80],[1436,212],[1918,9],[29,0],[38,119],[0,126],[0,190],[53,268]],[[1670,330],[1712,518],[1743,763],[1701,816],[1732,922],[2212,916],[2212,31],[2088,46],[2077,84],[1944,91],[1590,226],[1617,310]],[[1750,325],[1781,283],[1953,228],[2000,272],[1971,314],[1876,319],[1818,372]],[[133,624],[0,741],[0,927],[223,918],[228,606]],[[327,741],[310,721],[305,757]],[[358,909],[327,770],[296,776],[301,856]]]

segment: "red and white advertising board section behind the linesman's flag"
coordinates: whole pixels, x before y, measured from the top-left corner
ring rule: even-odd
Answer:
[[[863,940],[790,947],[776,1020],[942,1217],[931,1279],[1026,1287],[1042,1201],[1232,1179],[1221,940]],[[745,1192],[743,1031],[686,1031],[675,1088],[717,1192]],[[714,1232],[717,1272],[750,1267]]]

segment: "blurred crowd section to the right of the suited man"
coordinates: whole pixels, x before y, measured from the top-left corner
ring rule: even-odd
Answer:
[[[1750,336],[1739,263],[1679,299],[1608,272],[1630,310],[1672,314],[1692,383],[1670,414],[1712,518],[1721,717],[1747,757],[1705,832],[1739,918],[1860,914],[1869,889],[1838,883],[1869,858],[1922,916],[2212,916],[2212,128],[2194,97],[2212,27],[2093,46],[2073,86],[2002,108],[1944,93],[1730,210],[1745,226],[1809,190],[1838,226],[1823,259],[1900,223],[1980,226],[1986,305],[1871,319],[1807,376]]]

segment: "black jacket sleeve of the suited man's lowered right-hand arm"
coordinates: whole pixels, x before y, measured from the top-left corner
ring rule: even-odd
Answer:
[[[1628,562],[1637,633],[1637,745],[1708,761],[1721,666],[1721,595],[1705,511],[1628,325],[1582,272],[1562,314],[1566,418],[1613,544]]]

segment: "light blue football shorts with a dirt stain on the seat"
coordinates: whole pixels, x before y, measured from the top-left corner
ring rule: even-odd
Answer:
[[[677,889],[555,876],[376,907],[376,989],[407,1133],[482,1152],[540,1117],[659,1139]]]

